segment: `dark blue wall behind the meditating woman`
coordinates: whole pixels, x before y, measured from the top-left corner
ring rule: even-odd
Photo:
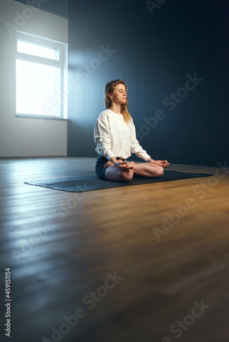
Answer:
[[[121,78],[154,159],[228,159],[228,10],[226,0],[114,0],[83,11],[69,0],[68,155],[97,157],[104,85]]]

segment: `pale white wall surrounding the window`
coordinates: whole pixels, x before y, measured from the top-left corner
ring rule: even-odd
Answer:
[[[16,117],[16,29],[68,42],[68,20],[41,2],[0,0],[0,157],[67,155],[67,120]]]

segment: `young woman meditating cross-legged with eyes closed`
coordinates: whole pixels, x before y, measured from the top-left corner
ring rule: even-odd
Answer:
[[[136,139],[125,82],[116,79],[106,83],[104,101],[106,110],[97,118],[94,129],[95,151],[99,154],[95,165],[98,178],[129,182],[133,177],[162,176],[169,163],[152,159]],[[131,153],[147,163],[128,163],[126,159]]]

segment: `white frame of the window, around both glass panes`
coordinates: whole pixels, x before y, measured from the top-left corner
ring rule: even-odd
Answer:
[[[54,48],[59,51],[59,60],[52,60],[46,57],[40,57],[36,55],[29,55],[27,53],[21,53],[17,51],[17,42],[21,40],[30,44],[40,45],[40,47]],[[46,115],[46,114],[23,114],[17,113],[16,116],[29,116],[32,118],[53,118],[53,119],[67,119],[67,89],[68,89],[68,44],[64,42],[58,42],[57,40],[51,40],[41,36],[35,36],[22,31],[16,31],[16,60],[23,60],[26,62],[35,62],[46,66],[53,66],[60,68],[60,116]],[[17,101],[17,98],[16,98]]]

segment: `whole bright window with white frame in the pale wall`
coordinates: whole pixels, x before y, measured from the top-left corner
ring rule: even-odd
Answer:
[[[16,114],[67,118],[67,44],[17,31]]]

